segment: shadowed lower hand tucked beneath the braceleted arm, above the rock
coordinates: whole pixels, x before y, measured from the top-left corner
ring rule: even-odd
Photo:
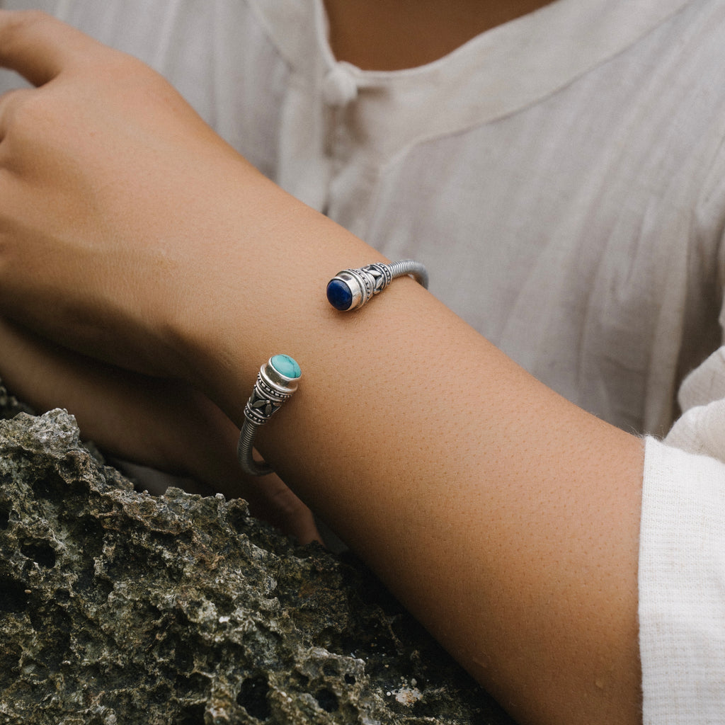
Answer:
[[[321,541],[312,513],[278,476],[241,472],[239,429],[186,384],[99,363],[3,318],[0,377],[36,410],[65,407],[105,452],[193,479],[202,494],[241,496],[255,516],[299,542]]]

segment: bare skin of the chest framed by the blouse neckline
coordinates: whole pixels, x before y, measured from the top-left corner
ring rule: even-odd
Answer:
[[[324,0],[339,60],[364,70],[425,65],[552,0]]]

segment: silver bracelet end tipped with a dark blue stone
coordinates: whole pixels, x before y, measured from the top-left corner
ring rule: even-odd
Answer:
[[[327,283],[328,302],[341,312],[357,310],[380,294],[396,277],[410,275],[428,288],[428,270],[414,260],[399,260],[386,265],[373,262],[354,270],[341,270]]]

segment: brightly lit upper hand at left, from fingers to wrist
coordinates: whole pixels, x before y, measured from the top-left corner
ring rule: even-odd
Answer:
[[[0,308],[113,363],[177,375],[173,320],[261,176],[156,72],[41,13],[0,11]],[[210,231],[210,226],[213,231]],[[238,228],[230,232],[239,233]]]

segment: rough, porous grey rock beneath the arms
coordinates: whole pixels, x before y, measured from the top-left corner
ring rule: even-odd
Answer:
[[[512,723],[360,563],[20,410],[0,391],[1,724]]]

